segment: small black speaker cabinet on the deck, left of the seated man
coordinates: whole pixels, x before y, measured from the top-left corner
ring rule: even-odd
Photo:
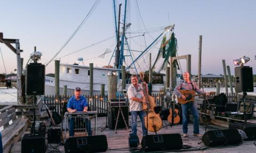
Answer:
[[[60,143],[61,132],[60,127],[52,127],[47,131],[48,143]]]

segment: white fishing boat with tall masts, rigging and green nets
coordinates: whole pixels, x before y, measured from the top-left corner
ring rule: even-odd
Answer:
[[[136,36],[134,36],[131,32],[131,23],[126,23],[126,1],[124,7],[124,18],[123,18],[123,27],[120,28],[120,6],[119,5],[119,15],[118,18],[116,16],[117,8],[115,1],[113,1],[114,5],[114,15],[115,15],[115,34],[116,34],[116,46],[113,48],[114,52],[109,60],[108,66],[104,67],[93,67],[93,94],[100,94],[101,92],[101,84],[105,84],[105,94],[107,94],[107,84],[108,84],[108,73],[112,71],[116,71],[119,75],[121,75],[122,66],[125,66],[125,71],[130,74],[138,74],[140,71],[145,70],[154,70],[155,72],[165,73],[165,69],[169,63],[169,57],[175,56],[177,52],[177,39],[174,37],[174,24],[168,25],[165,27],[158,27],[156,29],[151,29],[152,32],[158,32],[159,35],[154,39],[149,45],[144,45],[143,48],[131,48],[129,43],[129,38],[134,37],[143,37],[145,39],[145,33],[150,33],[150,30],[146,29],[141,31],[140,33],[135,32]],[[118,22],[117,22],[118,20]],[[130,30],[130,31],[129,31]],[[127,37],[129,36],[129,37]],[[162,41],[161,41],[162,39]],[[134,41],[134,40],[133,40]],[[136,41],[136,40],[135,40]],[[146,44],[146,42],[145,42]],[[143,49],[143,50],[142,50]],[[142,50],[142,51],[141,51]],[[111,52],[111,50],[110,50]],[[106,53],[110,53],[105,52]],[[149,66],[148,55],[149,53],[155,53],[154,60],[155,62]],[[105,55],[102,54],[102,55]],[[100,55],[100,56],[102,56]],[[78,58],[78,61],[82,61],[83,58]],[[146,59],[146,60],[145,60]],[[140,62],[139,62],[140,60]],[[113,62],[114,61],[114,62]],[[147,61],[147,62],[145,62]],[[110,65],[110,63],[114,63],[114,65]],[[97,63],[95,63],[97,64]],[[158,68],[156,68],[158,67]],[[158,70],[157,70],[158,69]],[[164,71],[164,72],[163,72]],[[161,78],[163,81],[160,84],[153,84],[152,91],[159,92],[164,89],[166,84],[165,76]],[[179,82],[180,79],[177,79]],[[130,86],[129,78],[126,78],[126,89]],[[118,84],[122,83],[121,77],[118,79]],[[72,94],[74,92],[75,87],[81,87],[83,94],[90,93],[90,67],[79,64],[63,64],[62,61],[60,63],[60,93],[63,93],[63,86],[67,86],[67,94]],[[122,91],[122,89],[118,89]],[[45,77],[45,95],[54,95],[55,93],[55,78],[53,77]]]

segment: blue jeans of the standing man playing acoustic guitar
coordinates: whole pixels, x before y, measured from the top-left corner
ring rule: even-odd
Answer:
[[[192,101],[181,105],[182,108],[182,130],[183,133],[188,133],[188,109],[194,117],[194,134],[199,134],[199,115],[196,104]]]

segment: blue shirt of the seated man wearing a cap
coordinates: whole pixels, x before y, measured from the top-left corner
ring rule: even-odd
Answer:
[[[80,99],[76,100],[76,96],[73,95],[68,100],[67,108],[76,109],[77,111],[83,111],[84,107],[86,106],[88,106],[88,103],[84,96],[80,96]]]

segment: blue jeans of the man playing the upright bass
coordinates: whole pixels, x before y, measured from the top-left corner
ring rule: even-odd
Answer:
[[[145,120],[144,117],[146,116],[145,111],[131,111],[132,115],[132,133],[137,135],[137,116],[140,116],[141,121],[141,128],[142,128],[142,134],[143,136],[147,135],[147,129],[145,126]]]

